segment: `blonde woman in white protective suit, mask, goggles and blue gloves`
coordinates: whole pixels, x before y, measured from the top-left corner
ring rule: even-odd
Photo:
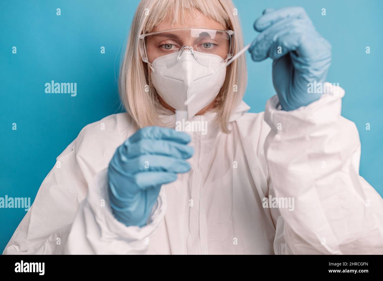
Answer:
[[[249,50],[273,59],[277,95],[246,113],[244,57],[225,66],[243,47],[233,11],[140,3],[119,78],[128,113],[83,128],[4,253],[383,253],[382,199],[358,174],[344,91],[308,93],[331,46],[303,9],[265,10]]]

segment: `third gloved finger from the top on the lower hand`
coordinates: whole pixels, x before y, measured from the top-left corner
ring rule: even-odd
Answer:
[[[132,176],[138,172],[164,171],[172,173],[185,173],[190,170],[190,164],[183,159],[162,155],[140,155],[136,158],[123,158],[119,165],[114,165],[119,174]]]

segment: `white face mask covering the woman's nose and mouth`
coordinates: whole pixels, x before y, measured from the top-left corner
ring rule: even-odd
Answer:
[[[187,110],[190,119],[208,106],[221,89],[226,67],[218,55],[184,49],[153,61],[152,83],[164,101],[176,110]],[[194,96],[185,106],[185,101]]]

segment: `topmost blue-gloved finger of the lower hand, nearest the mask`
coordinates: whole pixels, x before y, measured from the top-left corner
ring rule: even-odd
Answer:
[[[149,140],[177,141],[183,144],[190,142],[190,136],[185,132],[179,132],[171,128],[152,126],[139,129],[127,141],[125,141],[125,143],[134,143],[144,138]]]

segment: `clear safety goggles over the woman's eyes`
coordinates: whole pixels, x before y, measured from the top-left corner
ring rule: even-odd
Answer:
[[[142,60],[151,65],[164,64],[156,59],[175,53],[178,53],[178,60],[184,50],[189,50],[196,60],[198,55],[194,53],[195,51],[218,55],[226,61],[233,56],[234,31],[210,28],[167,29],[141,34],[139,47]]]

